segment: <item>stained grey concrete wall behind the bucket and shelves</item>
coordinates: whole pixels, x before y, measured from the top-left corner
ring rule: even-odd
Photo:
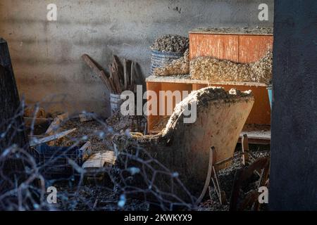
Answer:
[[[46,6],[58,20],[46,20]],[[258,6],[269,6],[259,21]],[[271,27],[273,0],[1,0],[0,37],[8,41],[20,94],[27,102],[49,102],[47,110],[107,115],[108,93],[82,63],[88,53],[101,65],[113,54],[139,63],[149,75],[152,41],[162,34],[187,35],[196,27]]]

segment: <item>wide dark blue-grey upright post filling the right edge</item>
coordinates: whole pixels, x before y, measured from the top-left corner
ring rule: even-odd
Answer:
[[[317,1],[275,1],[270,210],[316,210]]]

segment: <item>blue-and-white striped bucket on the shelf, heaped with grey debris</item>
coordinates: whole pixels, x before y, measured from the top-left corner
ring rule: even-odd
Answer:
[[[162,68],[173,62],[173,60],[182,58],[184,53],[181,52],[163,52],[151,50],[151,74],[155,68]]]

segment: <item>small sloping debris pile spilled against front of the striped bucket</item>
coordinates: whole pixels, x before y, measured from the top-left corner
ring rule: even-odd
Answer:
[[[188,75],[189,74],[189,49],[187,49],[182,58],[173,60],[172,63],[163,68],[156,68],[153,75],[170,76],[170,75]]]

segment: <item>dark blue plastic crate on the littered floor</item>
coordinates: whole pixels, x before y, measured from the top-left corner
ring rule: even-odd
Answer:
[[[89,152],[79,147],[56,147],[42,144],[32,148],[32,155],[46,178],[67,178],[78,174],[68,160],[73,160],[81,167]]]

